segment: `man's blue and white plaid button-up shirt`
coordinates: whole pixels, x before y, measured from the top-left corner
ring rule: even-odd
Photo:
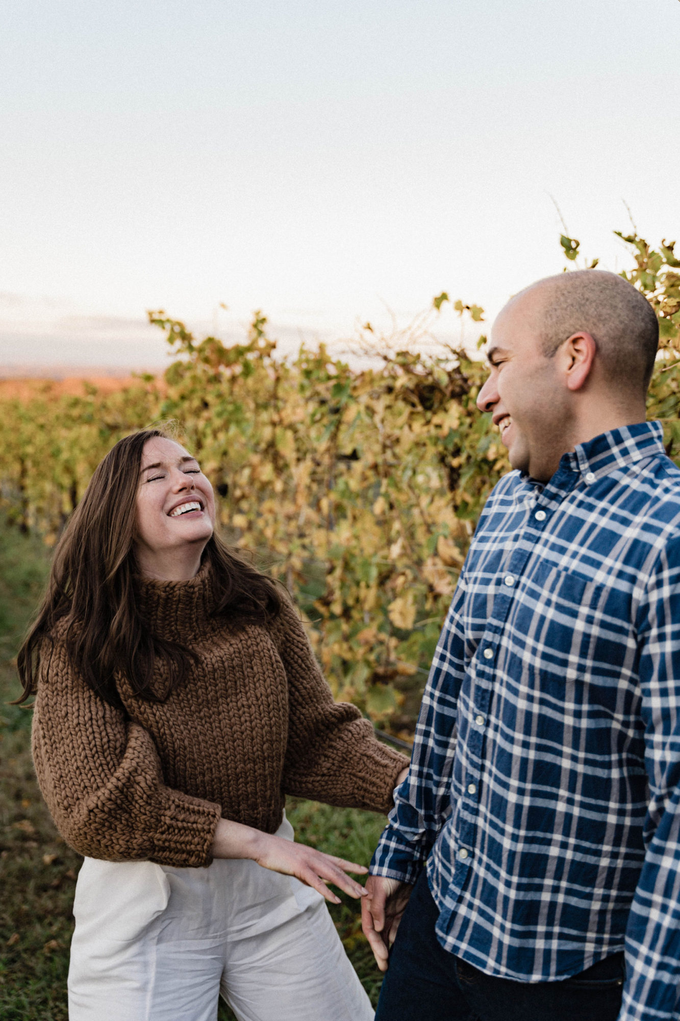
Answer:
[[[371,872],[427,873],[447,951],[680,1018],[680,470],[657,422],[511,472],[480,518]]]

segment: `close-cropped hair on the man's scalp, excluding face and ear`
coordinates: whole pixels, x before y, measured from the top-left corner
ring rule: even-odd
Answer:
[[[546,277],[517,294],[537,303],[543,353],[551,358],[575,333],[589,333],[604,375],[615,388],[646,393],[659,346],[659,323],[639,291],[614,273],[578,270]]]

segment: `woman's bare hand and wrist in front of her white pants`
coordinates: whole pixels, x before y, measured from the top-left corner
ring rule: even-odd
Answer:
[[[363,887],[346,875],[347,872],[368,872],[362,865],[345,862],[304,843],[262,833],[252,826],[243,826],[229,819],[217,822],[212,855],[214,858],[249,858],[264,869],[295,876],[300,882],[319,890],[331,904],[340,904],[340,897],[328,888],[327,883],[334,883],[350,896],[366,895]]]

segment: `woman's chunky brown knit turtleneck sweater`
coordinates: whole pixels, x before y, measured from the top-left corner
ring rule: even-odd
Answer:
[[[63,838],[90,858],[204,866],[221,816],[273,833],[286,794],[388,812],[407,760],[334,703],[288,602],[272,624],[210,616],[209,568],[141,584],[148,627],[197,653],[157,703],[118,685],[125,712],[80,679],[60,634],[41,664],[33,726],[40,787]]]

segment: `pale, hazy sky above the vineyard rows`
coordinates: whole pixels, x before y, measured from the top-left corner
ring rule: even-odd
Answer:
[[[624,201],[680,240],[678,52],[678,0],[4,0],[0,375],[162,364],[153,307],[492,315],[562,270],[550,196],[620,270]]]

